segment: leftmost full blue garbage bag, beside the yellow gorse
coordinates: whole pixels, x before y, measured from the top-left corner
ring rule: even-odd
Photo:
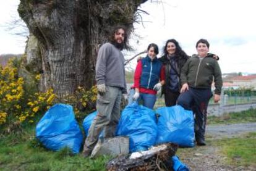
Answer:
[[[36,125],[36,138],[53,151],[67,147],[78,153],[83,135],[72,106],[56,104],[51,107]]]

